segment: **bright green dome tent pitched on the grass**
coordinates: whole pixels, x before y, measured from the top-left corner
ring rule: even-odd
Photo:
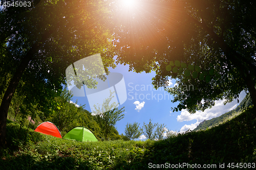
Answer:
[[[76,141],[98,141],[95,135],[86,127],[78,126],[71,129],[63,139],[71,139]]]

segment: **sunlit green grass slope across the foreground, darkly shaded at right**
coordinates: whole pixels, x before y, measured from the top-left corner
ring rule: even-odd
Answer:
[[[19,125],[9,122],[8,149],[1,151],[0,168],[255,169],[255,115],[249,108],[220,126],[160,141],[77,142],[32,129],[25,139],[26,127],[19,131]]]

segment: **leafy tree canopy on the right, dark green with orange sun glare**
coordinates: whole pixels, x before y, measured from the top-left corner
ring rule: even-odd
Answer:
[[[166,89],[180,102],[174,111],[205,110],[216,100],[237,99],[243,90],[256,105],[255,6],[251,1],[139,1],[130,17],[117,19],[122,25],[116,33],[118,62],[136,72],[155,70],[156,88],[166,87],[169,77],[177,79],[178,86]],[[181,88],[189,85],[193,90]]]

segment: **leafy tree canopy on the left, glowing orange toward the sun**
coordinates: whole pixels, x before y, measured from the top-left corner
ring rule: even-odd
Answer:
[[[31,7],[0,10],[1,89],[0,144],[5,145],[6,119],[20,82],[30,96],[49,107],[65,84],[65,70],[75,61],[101,54],[104,67],[115,67],[108,5],[81,1],[40,1]],[[10,69],[10,70],[8,70]],[[5,84],[6,83],[6,84]],[[31,91],[30,91],[31,90]]]

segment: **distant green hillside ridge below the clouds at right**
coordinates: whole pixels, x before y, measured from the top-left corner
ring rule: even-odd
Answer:
[[[244,105],[244,106],[243,106]],[[230,117],[238,115],[241,113],[241,108],[244,107],[248,107],[250,106],[250,98],[249,95],[246,95],[245,98],[242,100],[242,102],[237,106],[236,109],[233,109],[227,113],[222,114],[219,117],[215,117],[212,118],[210,120],[204,120],[203,122],[201,122],[197,128],[195,128],[193,131],[197,131],[197,130],[205,130],[209,127],[214,127],[214,126],[218,126],[220,124],[222,124],[223,122],[226,122],[228,119],[230,119]]]

